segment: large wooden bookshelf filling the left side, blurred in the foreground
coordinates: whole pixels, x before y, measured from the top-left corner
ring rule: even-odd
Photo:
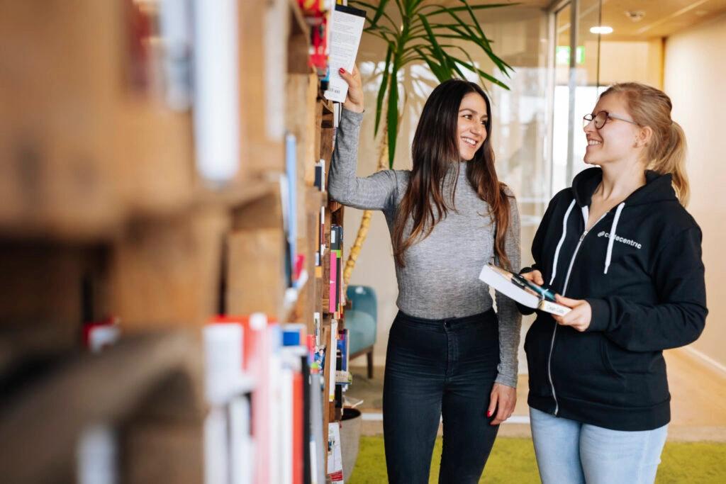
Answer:
[[[210,482],[208,321],[264,313],[314,334],[319,313],[327,341],[334,319],[343,327],[328,300],[330,227],[343,226],[343,208],[314,186],[319,160],[329,173],[335,107],[309,67],[306,18],[297,0],[232,4],[240,161],[224,184],[200,175],[183,83],[170,104],[179,72],[165,70],[160,2],[0,5],[0,475],[9,481],[74,480],[79,440],[103,424],[119,482]],[[176,67],[190,68],[179,52]],[[296,139],[292,213],[291,185],[280,182],[286,133]],[[304,255],[294,290],[285,218]],[[84,325],[110,315],[120,340],[89,353]],[[322,369],[326,443],[328,422],[340,420],[327,401],[334,365],[335,352]],[[245,382],[243,395],[259,386]]]

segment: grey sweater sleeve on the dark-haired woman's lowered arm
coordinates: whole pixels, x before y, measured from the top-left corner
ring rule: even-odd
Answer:
[[[507,194],[510,194],[507,191]],[[517,200],[510,195],[510,226],[507,229],[505,251],[513,272],[519,270],[521,264],[520,223]],[[497,317],[499,319],[499,366],[497,366],[497,383],[507,387],[517,387],[519,337],[522,316],[514,300],[496,293]]]

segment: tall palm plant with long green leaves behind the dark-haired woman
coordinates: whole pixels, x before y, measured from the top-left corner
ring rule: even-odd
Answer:
[[[386,43],[386,62],[380,73],[374,128],[374,136],[383,131],[378,151],[378,170],[382,170],[393,168],[399,122],[411,95],[401,95],[399,75],[410,65],[428,66],[439,82],[454,77],[465,78],[465,72],[468,71],[478,76],[482,86],[486,86],[485,81],[489,81],[509,89],[494,75],[481,70],[466,47],[484,52],[499,71],[509,77],[513,68],[494,54],[492,41],[481,28],[476,12],[513,4],[470,4],[467,0],[449,0],[447,4],[458,5],[446,7],[428,0],[379,0],[378,4],[372,4],[371,1],[349,0],[348,4],[367,12],[364,33]],[[371,215],[370,210],[364,211],[356,240],[348,255],[343,271],[343,282],[346,285],[366,237]]]

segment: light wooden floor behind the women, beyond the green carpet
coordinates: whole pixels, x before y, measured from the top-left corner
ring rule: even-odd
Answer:
[[[665,356],[672,398],[669,440],[726,442],[726,372],[684,348],[668,350]],[[376,367],[373,380],[367,380],[363,367],[355,367],[353,372],[354,383],[348,395],[362,398],[364,402],[359,408],[372,418],[364,421],[363,432],[380,435],[383,433],[383,424],[378,419],[383,403],[383,367]],[[514,422],[503,424],[499,435],[531,436],[526,419],[529,416],[527,386],[527,375],[521,374]]]

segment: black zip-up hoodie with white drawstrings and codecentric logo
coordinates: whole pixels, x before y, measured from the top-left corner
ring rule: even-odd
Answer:
[[[585,332],[538,311],[524,348],[535,409],[613,430],[670,421],[662,350],[695,341],[706,320],[701,229],[670,175],[647,183],[585,231],[600,168],[550,202],[532,244],[544,282],[592,307]],[[523,270],[526,272],[527,269]]]

